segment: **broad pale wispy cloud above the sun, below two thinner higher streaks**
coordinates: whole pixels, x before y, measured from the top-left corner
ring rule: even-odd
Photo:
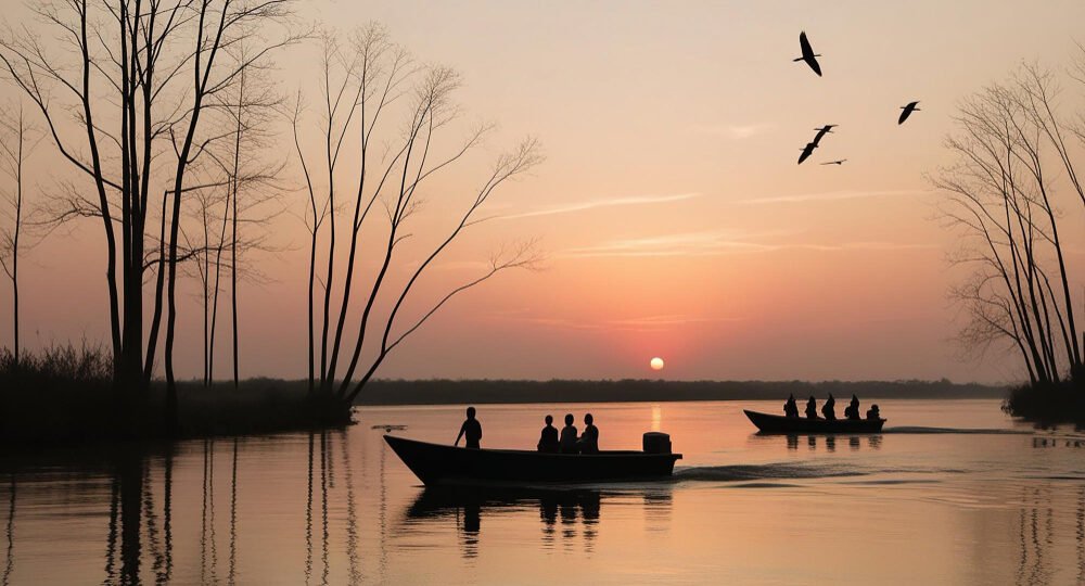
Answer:
[[[779,232],[776,232],[779,234]],[[558,254],[567,258],[652,257],[652,256],[718,256],[724,254],[765,253],[787,250],[817,252],[905,251],[935,249],[932,244],[861,241],[842,243],[769,243],[760,241],[763,234],[736,234],[728,231],[686,232],[649,238],[622,239],[590,246],[566,249]]]

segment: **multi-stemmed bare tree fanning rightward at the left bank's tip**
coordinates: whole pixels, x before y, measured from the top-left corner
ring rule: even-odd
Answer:
[[[501,184],[514,179],[541,162],[538,144],[534,139],[522,142],[511,153],[498,157],[489,175],[483,180],[473,199],[462,214],[450,220],[444,234],[430,234],[435,243],[417,260],[412,271],[404,276],[403,283],[390,285],[393,260],[400,244],[417,232],[409,232],[410,219],[422,209],[420,195],[427,180],[438,171],[449,168],[464,155],[482,144],[492,127],[480,126],[437,155],[437,138],[452,128],[459,117],[459,110],[452,103],[452,94],[459,87],[459,77],[447,67],[419,66],[407,52],[393,43],[387,34],[378,25],[370,25],[342,44],[337,38],[326,35],[323,39],[321,77],[321,142],[323,167],[310,162],[299,138],[301,100],[294,110],[293,126],[295,148],[301,160],[308,191],[307,226],[310,230],[309,263],[309,388],[332,398],[336,405],[349,406],[365,384],[380,368],[387,355],[408,335],[418,330],[435,311],[452,296],[475,286],[494,275],[509,268],[531,267],[538,257],[534,243],[514,246],[508,254],[496,256],[489,269],[475,280],[451,288],[450,291],[423,310],[414,321],[404,326],[397,318],[405,302],[422,278],[424,271],[445,252],[468,228],[477,224],[477,213],[490,195]],[[390,122],[392,120],[392,122]],[[398,127],[394,124],[399,122]],[[348,136],[357,137],[358,160],[355,164],[349,191],[340,189],[343,180],[336,167],[343,154],[343,144]],[[374,153],[374,144],[383,139],[386,145],[383,156]],[[318,181],[322,179],[323,184]],[[337,200],[346,193],[346,202]],[[337,217],[341,207],[353,208],[350,222],[345,232],[347,251],[345,258],[339,251]],[[371,215],[374,208],[383,207],[386,234],[383,244],[373,250],[380,265],[373,280],[362,288],[361,315],[356,333],[347,329],[348,315],[356,307],[354,295],[356,265],[359,259],[362,231],[380,217]],[[327,222],[327,237],[321,240],[321,229]],[[371,227],[370,230],[375,229]],[[320,250],[318,244],[323,244]],[[318,253],[323,254],[327,268],[322,276],[317,273]],[[337,267],[342,264],[342,267]],[[342,271],[343,284],[336,285],[336,276]],[[317,370],[317,328],[315,292],[317,281],[321,281],[322,305],[319,331],[319,371]],[[379,300],[385,298],[388,308],[382,311]],[[339,302],[337,307],[334,306]],[[332,316],[335,316],[334,328]],[[397,329],[397,326],[399,328]],[[352,343],[353,339],[353,343]],[[365,355],[367,340],[372,347]],[[345,353],[345,354],[344,354]],[[346,368],[340,373],[341,358]]]

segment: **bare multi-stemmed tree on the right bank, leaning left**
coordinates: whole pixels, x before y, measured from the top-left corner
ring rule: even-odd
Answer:
[[[1082,374],[1056,203],[1060,186],[1075,195],[1081,186],[1052,84],[1050,74],[1023,66],[968,99],[946,140],[957,163],[933,179],[946,193],[943,217],[965,237],[952,260],[974,269],[950,292],[969,316],[960,342],[980,353],[1009,342],[1033,384]],[[1048,170],[1052,163],[1067,173],[1062,182]]]

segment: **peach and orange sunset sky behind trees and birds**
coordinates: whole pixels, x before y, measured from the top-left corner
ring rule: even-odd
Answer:
[[[947,290],[965,273],[946,260],[957,237],[937,221],[926,177],[952,163],[943,141],[961,99],[1022,61],[1069,63],[1085,40],[1082,2],[316,0],[298,17],[343,33],[382,23],[420,62],[462,75],[465,119],[500,125],[478,155],[434,180],[437,203],[420,226],[443,226],[462,200],[437,195],[468,193],[487,157],[523,137],[546,154],[487,203],[495,219],[448,251],[411,308],[469,281],[508,243],[538,239],[542,267],[457,297],[381,377],[1023,375],[1009,355],[966,360],[953,341],[960,311]],[[7,20],[28,22],[25,8]],[[821,78],[792,62],[801,30],[822,54]],[[312,51],[277,61],[284,92],[317,98]],[[1080,107],[1085,88],[1065,89],[1064,105]],[[898,126],[912,100],[922,110]],[[824,124],[840,127],[796,165]],[[290,151],[286,135],[277,141]],[[847,162],[819,165],[837,158]],[[30,165],[36,195],[58,189],[56,164],[42,144]],[[299,181],[296,157],[286,173]],[[305,374],[305,205],[303,192],[288,195],[271,229],[280,250],[254,257],[265,279],[242,284],[243,377]],[[1085,230],[1071,221],[1080,267]],[[27,254],[24,345],[107,340],[103,246],[87,220]],[[418,262],[411,251],[398,268]],[[193,291],[180,308],[182,377],[201,368]],[[0,289],[0,306],[10,303]],[[226,378],[228,329],[220,335],[216,375]],[[0,343],[10,340],[10,313],[0,314]],[[666,362],[659,372],[655,356]]]

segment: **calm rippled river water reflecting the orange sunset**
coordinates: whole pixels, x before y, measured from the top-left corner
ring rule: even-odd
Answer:
[[[372,429],[451,442],[459,407],[171,453],[9,455],[0,578],[1085,584],[1080,432],[1016,424],[993,400],[885,400],[880,435],[753,435],[741,410],[779,403],[573,406],[604,448],[662,430],[685,459],[673,482],[567,492],[427,493]],[[534,446],[542,416],[566,410],[481,406],[483,445]]]

